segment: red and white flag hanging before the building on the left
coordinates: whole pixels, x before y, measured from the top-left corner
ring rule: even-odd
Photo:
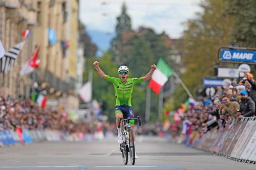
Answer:
[[[35,51],[33,52],[33,54],[30,56],[28,61],[24,64],[22,69],[19,71],[20,76],[29,74],[30,72],[34,71],[34,69],[40,64],[40,60],[37,59],[39,49],[40,49],[39,46],[35,48]]]

